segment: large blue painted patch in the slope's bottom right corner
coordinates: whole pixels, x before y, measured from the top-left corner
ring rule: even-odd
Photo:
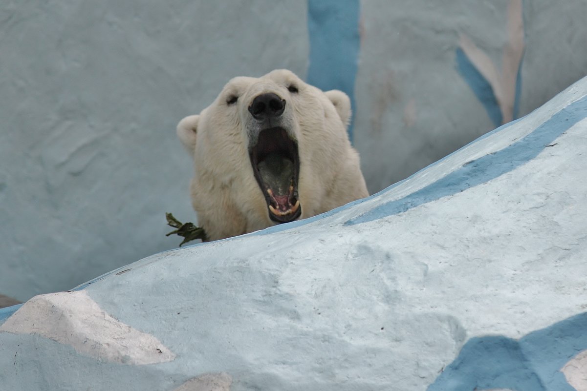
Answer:
[[[560,369],[586,349],[587,313],[519,341],[505,336],[471,338],[428,391],[575,391]]]

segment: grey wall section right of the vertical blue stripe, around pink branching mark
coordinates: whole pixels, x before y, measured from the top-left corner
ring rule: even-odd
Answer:
[[[505,89],[515,87],[518,76],[519,91],[511,96],[518,109],[514,118],[587,75],[585,0],[564,6],[548,0],[365,0],[361,5],[355,145],[372,192],[501,124],[492,121],[500,111],[495,91],[471,73],[488,66],[498,77],[513,73],[512,81],[502,83]],[[519,18],[511,12],[515,6]],[[519,23],[522,46],[508,47],[509,30]],[[482,64],[465,72],[457,56],[463,36],[485,55]],[[518,49],[519,67],[508,63]]]

